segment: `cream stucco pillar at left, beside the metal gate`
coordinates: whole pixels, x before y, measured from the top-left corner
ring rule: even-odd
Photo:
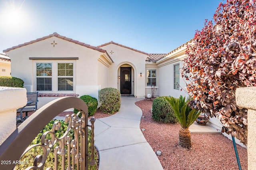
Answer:
[[[16,129],[16,110],[27,103],[26,89],[0,86],[0,145]]]

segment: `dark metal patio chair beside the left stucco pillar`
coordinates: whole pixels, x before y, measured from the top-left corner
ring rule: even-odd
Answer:
[[[28,118],[28,112],[37,110],[38,103],[38,92],[27,93],[27,105],[17,110],[17,113],[20,113],[19,116],[16,117],[16,123],[23,121]],[[26,116],[23,118],[22,113],[26,112]],[[19,120],[20,119],[20,120]]]

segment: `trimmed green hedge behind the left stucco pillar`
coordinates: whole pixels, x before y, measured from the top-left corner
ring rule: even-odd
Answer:
[[[0,86],[4,87],[22,87],[23,88],[24,81],[17,77],[10,76],[0,76]]]

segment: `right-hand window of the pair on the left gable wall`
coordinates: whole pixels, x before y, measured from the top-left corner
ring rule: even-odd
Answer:
[[[58,91],[73,91],[73,63],[58,63]]]

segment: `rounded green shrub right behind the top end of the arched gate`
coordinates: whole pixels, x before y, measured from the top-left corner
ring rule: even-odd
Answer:
[[[97,111],[98,100],[95,97],[89,95],[83,95],[80,97],[80,99],[82,99],[88,106],[88,116],[94,115],[94,113]],[[78,113],[78,110],[74,109],[74,113]]]

